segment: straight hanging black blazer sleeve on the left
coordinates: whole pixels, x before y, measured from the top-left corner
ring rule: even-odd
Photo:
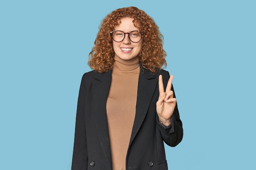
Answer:
[[[74,150],[71,170],[87,170],[87,141],[85,131],[85,75],[82,77],[76,111]]]

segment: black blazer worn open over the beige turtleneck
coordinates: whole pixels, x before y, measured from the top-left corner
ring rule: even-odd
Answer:
[[[111,70],[106,73],[90,71],[83,75],[76,113],[72,170],[112,170],[106,117],[111,73]],[[160,74],[166,88],[170,77],[167,71],[153,74],[141,68],[126,170],[167,170],[164,142],[176,146],[182,140],[182,121],[177,105],[171,126],[163,126],[157,120]]]

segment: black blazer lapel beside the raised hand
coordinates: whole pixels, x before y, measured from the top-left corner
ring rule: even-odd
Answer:
[[[139,74],[136,113],[129,146],[139,131],[144,118],[146,117],[148,107],[152,100],[153,94],[155,93],[155,88],[157,87],[157,82],[158,79],[156,75],[150,71],[145,70]]]

